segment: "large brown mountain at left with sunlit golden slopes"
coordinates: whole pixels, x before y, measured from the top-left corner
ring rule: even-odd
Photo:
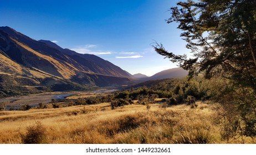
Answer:
[[[98,56],[0,27],[0,96],[127,85],[130,78],[126,71]]]

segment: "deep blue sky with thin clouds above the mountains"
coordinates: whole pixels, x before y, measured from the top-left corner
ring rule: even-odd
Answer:
[[[177,64],[157,54],[153,40],[176,54],[189,51],[177,24],[167,24],[171,0],[1,1],[0,26],[62,48],[100,56],[131,74],[153,75]]]

